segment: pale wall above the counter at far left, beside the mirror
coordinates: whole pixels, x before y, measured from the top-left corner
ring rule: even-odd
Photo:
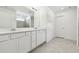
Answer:
[[[0,7],[0,28],[16,28],[15,11]]]

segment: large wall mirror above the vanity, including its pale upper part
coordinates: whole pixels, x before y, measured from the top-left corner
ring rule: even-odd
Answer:
[[[16,28],[34,27],[34,12],[26,7],[16,9]]]

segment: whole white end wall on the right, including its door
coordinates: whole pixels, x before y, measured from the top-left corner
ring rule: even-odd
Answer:
[[[65,11],[56,18],[56,34],[57,37],[64,37],[64,39],[77,39],[76,9]]]

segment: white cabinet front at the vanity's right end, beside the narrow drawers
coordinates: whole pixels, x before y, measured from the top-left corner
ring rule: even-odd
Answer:
[[[37,31],[37,46],[45,41],[45,30]]]

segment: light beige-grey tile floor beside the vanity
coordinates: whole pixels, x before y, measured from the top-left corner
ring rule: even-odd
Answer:
[[[32,53],[78,53],[79,47],[76,46],[75,41],[56,38],[51,40],[48,43],[45,43],[35,50]]]

